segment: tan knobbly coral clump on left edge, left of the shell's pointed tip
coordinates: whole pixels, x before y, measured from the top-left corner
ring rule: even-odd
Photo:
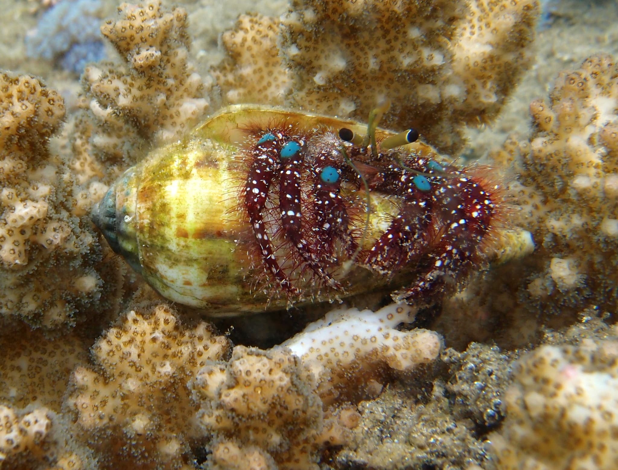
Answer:
[[[93,268],[101,249],[74,212],[73,178],[49,151],[62,119],[56,92],[27,75],[0,75],[0,312],[48,327],[87,310],[102,284]]]

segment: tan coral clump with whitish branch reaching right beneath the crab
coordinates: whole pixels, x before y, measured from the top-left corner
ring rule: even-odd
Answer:
[[[397,331],[410,307],[339,309],[271,351],[234,348],[227,363],[206,365],[192,382],[201,425],[214,435],[215,468],[316,469],[325,446],[350,440],[358,413],[345,403],[376,395],[392,371],[435,361],[433,331]],[[291,352],[294,354],[290,354]]]

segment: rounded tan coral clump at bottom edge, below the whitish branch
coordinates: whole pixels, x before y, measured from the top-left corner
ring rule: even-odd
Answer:
[[[193,382],[198,419],[214,434],[217,469],[318,469],[318,451],[341,444],[356,424],[349,411],[323,412],[315,378],[285,349],[237,346],[227,364],[207,365]]]

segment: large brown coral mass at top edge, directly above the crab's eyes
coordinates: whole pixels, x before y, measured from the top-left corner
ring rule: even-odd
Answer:
[[[530,66],[538,11],[533,0],[295,0],[281,22],[240,19],[223,36],[228,58],[214,75],[226,77],[218,85],[229,103],[365,120],[387,98],[384,124],[415,127],[457,152],[464,127],[491,121]]]

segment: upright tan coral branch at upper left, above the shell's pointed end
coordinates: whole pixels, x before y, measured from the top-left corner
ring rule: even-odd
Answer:
[[[125,62],[91,65],[82,79],[92,122],[82,123],[80,132],[109,163],[125,156],[135,161],[141,145],[179,137],[208,108],[203,79],[188,62],[184,9],[165,11],[151,0],[124,3],[119,14],[101,32]],[[96,134],[89,132],[93,125]]]

